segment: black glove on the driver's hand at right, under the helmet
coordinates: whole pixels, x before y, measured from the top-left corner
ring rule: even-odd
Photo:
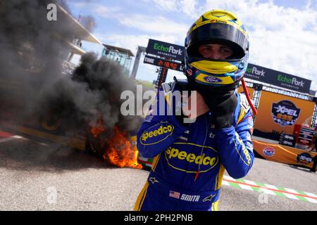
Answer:
[[[209,107],[215,129],[223,129],[232,126],[236,107],[237,96],[235,94],[232,94],[225,101],[218,103],[218,105]]]

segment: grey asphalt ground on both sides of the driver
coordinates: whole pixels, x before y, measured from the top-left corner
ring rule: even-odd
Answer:
[[[0,159],[0,210],[129,211],[149,173],[25,138],[0,139]],[[258,158],[244,179],[317,193],[317,174],[309,169]],[[317,204],[223,186],[219,210],[316,211]]]

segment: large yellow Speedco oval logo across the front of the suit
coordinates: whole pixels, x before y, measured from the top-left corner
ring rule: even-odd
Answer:
[[[197,167],[188,167],[188,163],[190,165],[201,165],[200,172],[207,172],[209,169],[215,167],[218,163],[218,153],[216,150],[213,150],[211,147],[204,147],[204,153],[200,155],[202,146],[198,146],[192,143],[174,143],[175,146],[180,146],[184,150],[180,150],[175,147],[168,147],[165,151],[166,160],[168,165],[173,167],[174,169],[178,169],[184,172],[197,172]],[[187,153],[185,150],[197,148],[197,153]],[[193,171],[190,170],[193,168]]]

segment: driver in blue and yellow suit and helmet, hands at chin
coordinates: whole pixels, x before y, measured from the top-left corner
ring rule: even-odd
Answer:
[[[154,160],[134,210],[217,210],[225,170],[241,178],[254,160],[252,112],[236,91],[249,55],[244,26],[233,13],[208,11],[190,27],[185,49],[187,81],[163,84],[137,134],[139,153]],[[188,101],[197,101],[196,114],[175,115],[170,96],[184,90],[197,91]],[[172,115],[157,113],[162,99]]]

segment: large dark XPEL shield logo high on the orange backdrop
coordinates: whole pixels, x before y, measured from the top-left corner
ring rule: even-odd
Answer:
[[[292,126],[298,119],[300,112],[301,109],[297,108],[291,101],[282,100],[272,104],[273,120],[282,127]]]

